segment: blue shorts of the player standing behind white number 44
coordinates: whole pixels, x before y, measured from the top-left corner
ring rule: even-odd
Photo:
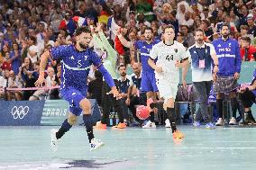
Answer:
[[[154,72],[142,72],[142,92],[158,92]]]

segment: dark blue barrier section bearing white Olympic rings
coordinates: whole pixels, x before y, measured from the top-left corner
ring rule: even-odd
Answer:
[[[44,101],[0,101],[0,126],[39,126]]]

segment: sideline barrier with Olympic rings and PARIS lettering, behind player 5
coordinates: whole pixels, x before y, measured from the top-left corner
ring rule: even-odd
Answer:
[[[96,99],[92,104],[93,120],[99,121],[101,112]],[[0,101],[0,126],[61,125],[68,117],[69,103],[64,100],[46,101]],[[77,125],[83,125],[82,114]]]

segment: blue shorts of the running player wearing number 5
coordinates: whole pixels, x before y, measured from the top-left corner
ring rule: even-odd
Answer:
[[[83,112],[79,103],[87,97],[87,89],[78,90],[74,87],[67,87],[61,89],[60,93],[63,99],[69,102],[69,112],[79,116]]]

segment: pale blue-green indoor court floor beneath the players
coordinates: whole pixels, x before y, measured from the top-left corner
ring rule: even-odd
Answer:
[[[171,130],[128,128],[95,130],[105,146],[89,151],[87,132],[74,127],[50,148],[50,129],[59,127],[0,127],[2,169],[110,170],[247,170],[256,168],[256,129],[215,130],[178,126],[185,139],[173,140]]]

